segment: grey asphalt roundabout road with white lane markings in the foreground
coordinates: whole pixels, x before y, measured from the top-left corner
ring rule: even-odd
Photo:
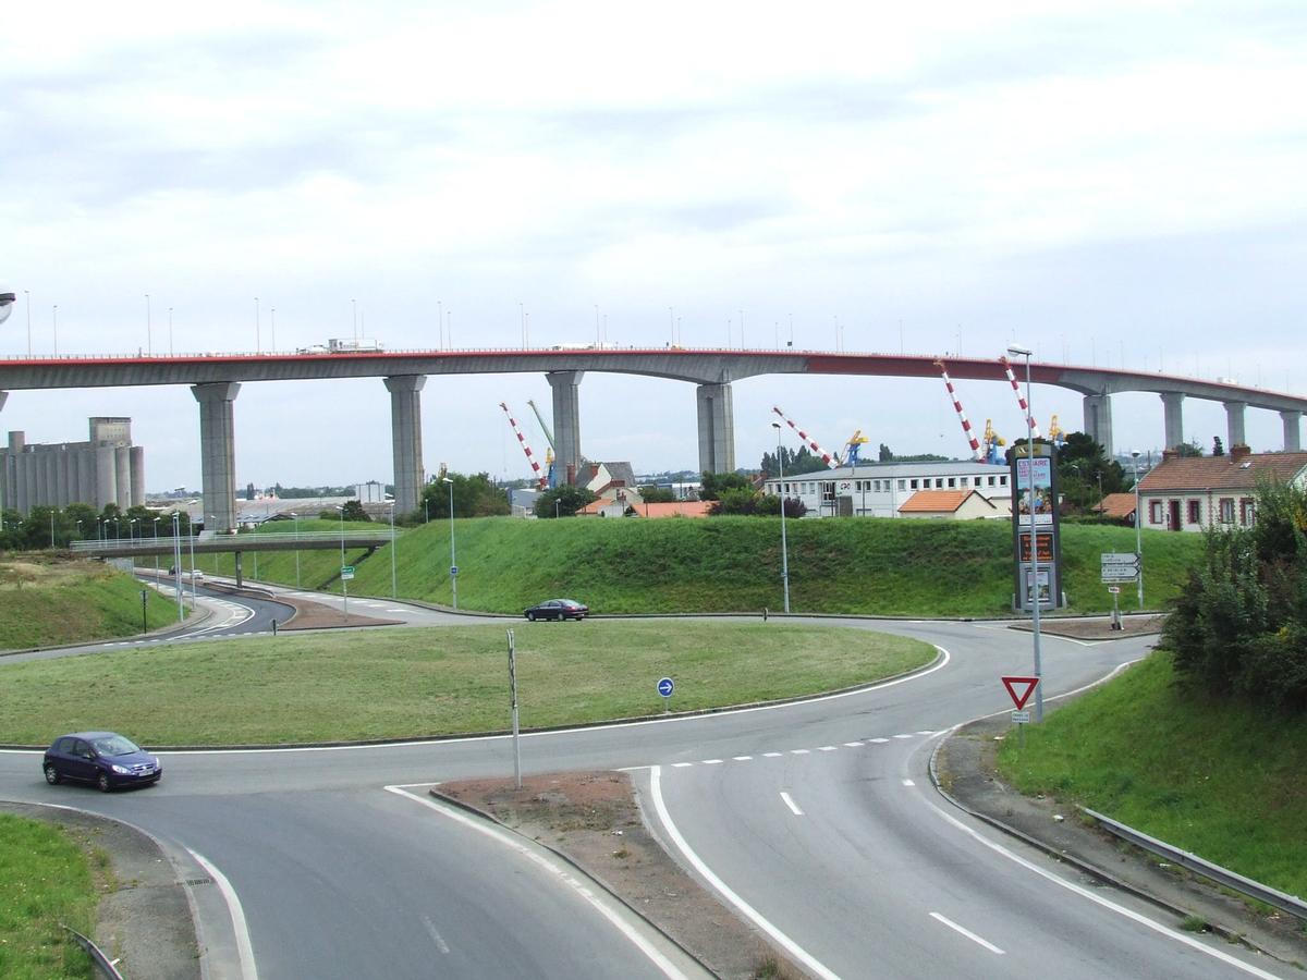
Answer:
[[[1294,975],[1174,932],[933,791],[929,753],[953,725],[1010,707],[999,677],[1029,670],[1029,634],[847,625],[946,653],[856,694],[527,736],[524,768],[633,770],[668,848],[817,976]],[[1145,644],[1046,636],[1046,699]],[[507,738],[170,753],[165,766],[154,789],[102,796],[47,787],[37,757],[0,753],[0,796],[112,815],[182,861],[203,855],[248,925],[242,958],[239,930],[213,911],[222,906],[199,902],[213,977],[240,976],[242,959],[246,977],[272,980],[682,975],[557,869],[423,802],[431,783],[511,775]]]

